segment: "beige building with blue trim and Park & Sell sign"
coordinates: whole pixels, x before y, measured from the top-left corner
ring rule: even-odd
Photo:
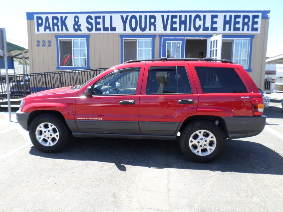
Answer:
[[[269,12],[27,13],[30,73],[211,57],[241,64],[264,90]]]

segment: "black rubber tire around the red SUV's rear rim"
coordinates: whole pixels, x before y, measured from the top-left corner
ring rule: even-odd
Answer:
[[[215,136],[215,139],[216,139],[215,149],[211,153],[208,153],[208,149],[206,149],[207,152],[206,151],[204,152],[204,154],[206,153],[208,155],[202,155],[202,156],[197,155],[190,148],[190,145],[189,145],[190,137],[192,136],[192,134],[194,134],[198,130],[207,130]],[[224,147],[225,147],[225,139],[226,139],[225,133],[213,122],[195,121],[185,126],[184,129],[182,130],[181,135],[180,135],[180,147],[184,155],[190,160],[197,162],[197,163],[210,163],[216,160],[223,152]],[[198,144],[198,146],[200,144]],[[199,148],[198,146],[196,146],[196,150]],[[207,147],[208,147],[208,144],[207,144]],[[194,146],[192,146],[192,148],[194,148]],[[206,148],[206,147],[203,146],[203,148]],[[201,153],[201,151],[199,153]]]

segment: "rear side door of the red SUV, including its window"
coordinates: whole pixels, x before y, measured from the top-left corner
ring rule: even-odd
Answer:
[[[198,93],[185,62],[147,63],[139,106],[144,135],[175,135],[182,119],[197,110]]]

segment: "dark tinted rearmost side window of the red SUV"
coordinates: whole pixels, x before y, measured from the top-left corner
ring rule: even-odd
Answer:
[[[203,93],[247,93],[233,68],[195,67]]]

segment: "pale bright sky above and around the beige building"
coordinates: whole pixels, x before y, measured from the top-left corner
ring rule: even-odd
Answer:
[[[271,10],[267,57],[283,54],[283,0],[1,0],[0,27],[27,42],[26,12],[137,10]]]

